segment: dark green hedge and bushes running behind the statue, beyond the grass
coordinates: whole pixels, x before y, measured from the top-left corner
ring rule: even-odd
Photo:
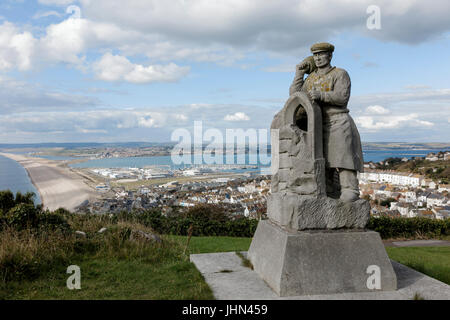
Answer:
[[[0,203],[0,230],[10,226],[18,230],[45,228],[71,231],[67,222],[70,212],[64,209],[43,211],[41,206],[30,203],[31,198],[28,194],[19,195],[16,196],[16,203],[11,192],[0,192],[0,200],[3,200]],[[169,215],[163,215],[160,209],[121,212],[112,218],[112,222],[118,220],[134,220],[160,234],[187,235],[192,226],[194,236],[253,237],[258,225],[258,220],[235,216],[217,205],[198,205],[186,212],[173,210]],[[366,228],[379,232],[383,239],[437,238],[450,235],[450,219],[371,217]]]

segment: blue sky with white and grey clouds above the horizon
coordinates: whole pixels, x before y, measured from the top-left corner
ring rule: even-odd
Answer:
[[[0,143],[269,129],[316,42],[363,142],[450,142],[448,0],[2,0]]]

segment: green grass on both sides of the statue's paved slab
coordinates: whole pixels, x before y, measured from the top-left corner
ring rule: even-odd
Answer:
[[[165,246],[109,246],[72,255],[33,279],[0,279],[0,299],[214,299],[190,253],[246,251],[251,238],[163,236]],[[5,240],[5,239],[4,239]],[[3,248],[5,250],[5,248]],[[56,249],[54,249],[56,250]],[[386,248],[389,257],[450,284],[450,247]],[[66,287],[69,264],[81,268],[81,290]]]

